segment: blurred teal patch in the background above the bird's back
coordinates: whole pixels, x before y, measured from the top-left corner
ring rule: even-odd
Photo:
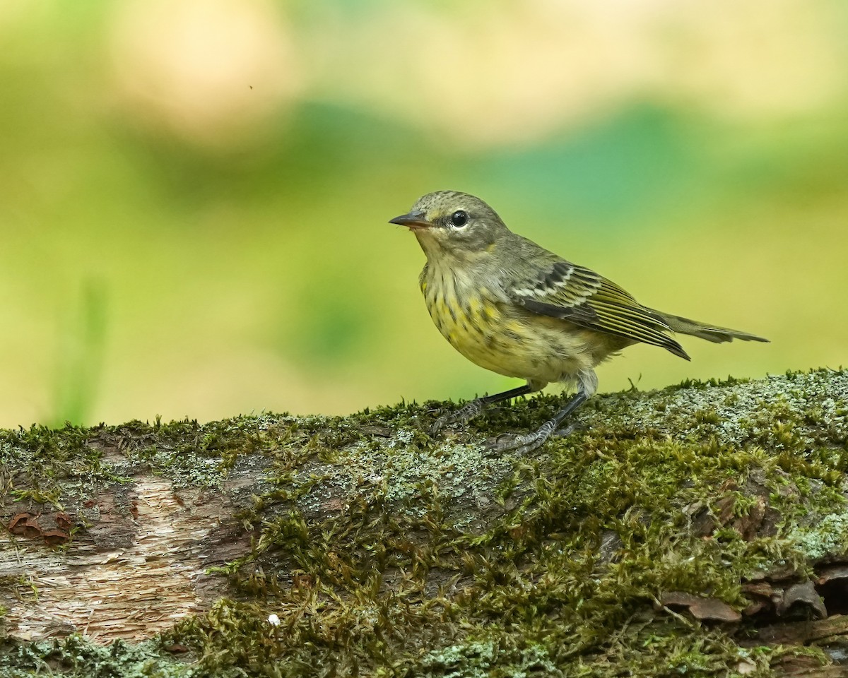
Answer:
[[[467,175],[540,213],[627,225],[633,214],[685,205],[703,171],[682,120],[639,106],[542,146],[476,158]]]

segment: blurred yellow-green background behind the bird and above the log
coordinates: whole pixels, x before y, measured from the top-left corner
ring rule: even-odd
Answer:
[[[838,366],[848,5],[3,0],[0,425],[516,386],[387,223],[443,188],[773,341],[633,347],[602,390]]]

